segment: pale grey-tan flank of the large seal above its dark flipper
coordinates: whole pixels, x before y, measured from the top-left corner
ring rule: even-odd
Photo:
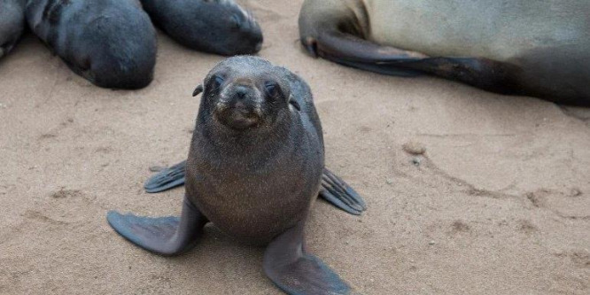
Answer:
[[[588,39],[590,2],[585,0],[366,3],[370,39],[434,57],[506,61],[529,50],[587,43]]]

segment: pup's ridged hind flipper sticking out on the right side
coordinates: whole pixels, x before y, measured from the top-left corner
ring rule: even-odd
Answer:
[[[367,209],[367,205],[359,193],[327,168],[323,169],[320,197],[354,215],[360,215],[362,211]]]

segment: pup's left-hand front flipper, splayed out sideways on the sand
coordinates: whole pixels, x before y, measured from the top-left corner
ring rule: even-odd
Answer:
[[[106,220],[131,243],[164,256],[182,254],[194,247],[203,233],[207,219],[184,197],[178,217],[143,217],[109,211]]]

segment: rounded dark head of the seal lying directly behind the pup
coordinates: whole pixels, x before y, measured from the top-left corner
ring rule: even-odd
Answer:
[[[194,40],[198,47],[225,56],[254,54],[262,47],[262,31],[251,12],[233,0],[199,0],[198,24],[202,29]]]

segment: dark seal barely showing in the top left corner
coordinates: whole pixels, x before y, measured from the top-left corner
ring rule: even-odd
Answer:
[[[25,0],[0,0],[0,58],[19,41],[25,28]]]

